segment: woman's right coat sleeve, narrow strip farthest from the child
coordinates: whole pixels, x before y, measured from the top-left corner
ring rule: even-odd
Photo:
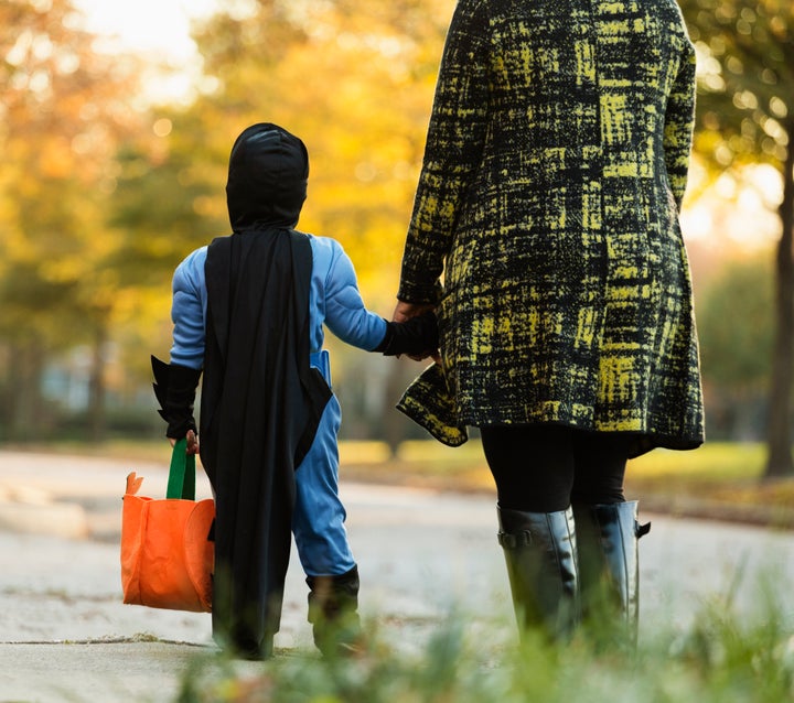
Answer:
[[[680,209],[689,171],[695,126],[695,47],[686,40],[678,74],[665,113],[664,150],[667,177]]]

